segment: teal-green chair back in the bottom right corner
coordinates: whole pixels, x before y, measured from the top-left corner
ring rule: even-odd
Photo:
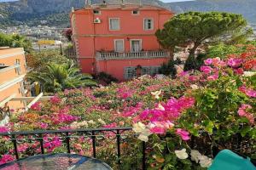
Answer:
[[[250,158],[238,156],[231,150],[221,150],[208,170],[256,170]]]

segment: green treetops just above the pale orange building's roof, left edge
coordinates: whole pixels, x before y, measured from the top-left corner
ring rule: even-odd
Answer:
[[[26,37],[14,34],[7,35],[0,33],[0,47],[9,46],[10,48],[24,48],[26,52],[32,51],[32,43]]]

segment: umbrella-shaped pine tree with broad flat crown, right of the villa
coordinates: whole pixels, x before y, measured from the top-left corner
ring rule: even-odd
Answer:
[[[241,32],[247,21],[241,14],[224,12],[188,12],[177,14],[167,21],[164,28],[155,32],[163,48],[173,49],[176,46],[193,44],[189,50],[186,67],[195,65],[195,51],[207,39],[222,37],[234,32]],[[241,36],[241,34],[239,34]],[[214,39],[216,40],[216,39]]]

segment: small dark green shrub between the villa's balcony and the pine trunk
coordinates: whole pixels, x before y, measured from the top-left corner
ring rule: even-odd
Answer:
[[[182,61],[180,59],[170,59],[168,63],[164,63],[160,67],[160,74],[164,74],[166,76],[176,77],[177,70],[175,65],[181,65]]]

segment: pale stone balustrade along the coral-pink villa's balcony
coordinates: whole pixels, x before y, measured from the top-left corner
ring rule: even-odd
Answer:
[[[140,52],[97,52],[96,59],[107,60],[107,59],[154,59],[154,58],[165,58],[170,57],[170,53],[167,51],[140,51]]]

